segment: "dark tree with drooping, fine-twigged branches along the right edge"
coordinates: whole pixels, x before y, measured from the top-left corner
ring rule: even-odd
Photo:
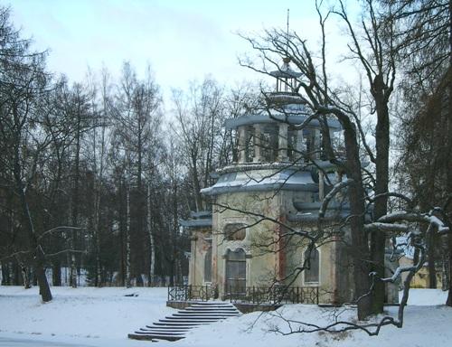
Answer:
[[[450,182],[447,178],[450,171],[447,167],[450,163],[447,156],[450,154],[447,149],[450,148],[447,120],[451,112],[451,5],[447,0],[400,0],[391,3],[394,8],[391,16],[399,23],[396,37],[405,76],[401,80],[400,92],[403,101],[400,107],[403,131],[399,141],[402,155],[396,172],[400,175],[400,183],[408,183],[401,184],[402,188],[410,190],[424,209],[443,205],[445,217],[450,220],[447,192],[450,192],[452,183],[447,183]],[[450,241],[449,246],[444,248],[438,237],[432,237],[431,243],[435,247],[432,246],[428,253],[428,282],[430,287],[436,287],[438,258],[443,258],[445,277],[450,278],[452,251]],[[447,286],[446,283],[444,285]],[[449,289],[449,305],[452,304],[450,293]]]

